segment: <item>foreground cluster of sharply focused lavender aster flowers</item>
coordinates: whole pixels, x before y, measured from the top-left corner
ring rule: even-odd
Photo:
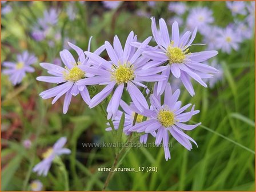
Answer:
[[[65,95],[63,113],[67,113],[72,96],[79,93],[89,108],[101,105],[103,100],[111,96],[109,100],[106,99],[109,101],[106,111],[107,119],[113,122],[114,127],[107,130],[118,129],[122,113],[125,113],[123,132],[127,135],[134,131],[143,133],[140,141],[144,143],[148,135],[152,135],[157,145],[163,142],[167,160],[170,158],[169,134],[190,150],[190,141],[195,141],[183,130],[192,130],[200,125],[185,123],[199,111],[194,110],[193,105],[190,111],[185,112],[191,104],[181,106],[181,101],[178,101],[180,90],[171,89],[169,78],[173,76],[181,79],[190,95],[195,95],[192,81],[207,87],[203,79],[209,79],[218,73],[217,69],[206,65],[206,61],[218,52],[211,50],[190,53],[189,47],[196,45],[193,41],[197,28],[193,32],[186,31],[180,35],[178,23],[174,22],[169,35],[166,22],[159,19],[157,29],[155,18],[152,17],[151,30],[156,46],[149,45],[151,37],[138,42],[133,31],[128,35],[124,46],[115,35],[113,45],[106,41],[94,52],[90,51],[91,38],[87,51],[69,43],[77,53],[78,59],[76,60],[66,49],[61,51],[60,56],[65,67],[41,63],[40,65],[53,76],[41,76],[37,80],[57,85],[43,91],[40,94],[43,99],[54,97],[52,103],[55,103]],[[109,59],[101,57],[103,51],[106,51]],[[150,91],[149,82],[154,83],[153,91]],[[104,87],[91,98],[89,86],[95,85]],[[142,89],[144,91],[141,91]],[[129,104],[122,100],[125,92],[130,95]],[[163,103],[161,96],[164,97]],[[38,165],[34,170],[45,174],[40,167]]]

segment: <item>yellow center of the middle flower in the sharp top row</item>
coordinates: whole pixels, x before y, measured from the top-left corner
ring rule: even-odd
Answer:
[[[127,83],[134,79],[133,66],[126,65],[113,65],[114,72],[111,74],[111,78],[115,80],[118,84]]]

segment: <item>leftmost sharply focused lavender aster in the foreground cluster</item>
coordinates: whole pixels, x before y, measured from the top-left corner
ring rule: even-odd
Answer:
[[[85,73],[82,71],[79,66],[88,65],[89,58],[85,57],[82,49],[78,46],[69,43],[70,47],[74,49],[78,54],[78,61],[75,61],[73,55],[68,50],[63,50],[59,54],[61,56],[62,62],[65,65],[65,68],[61,66],[57,66],[51,63],[40,63],[41,67],[47,69],[48,73],[54,75],[55,77],[50,76],[41,76],[37,77],[38,81],[48,82],[48,83],[57,83],[61,84],[57,87],[53,87],[49,90],[43,91],[39,95],[43,99],[49,99],[54,97],[52,104],[54,104],[62,95],[65,94],[64,105],[63,105],[63,113],[66,114],[69,109],[69,105],[71,102],[72,95],[76,96],[79,93],[81,94],[83,101],[89,105],[90,103],[90,95],[86,86],[77,86],[76,82],[82,78],[91,77],[90,73]],[[90,41],[88,50],[90,50]],[[95,51],[95,55],[100,54],[104,50],[104,47],[99,47],[98,50]]]

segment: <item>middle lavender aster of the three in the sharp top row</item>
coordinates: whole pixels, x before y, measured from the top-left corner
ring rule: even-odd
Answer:
[[[141,47],[145,47],[150,42],[150,39],[151,37],[142,42]],[[91,99],[89,107],[97,106],[103,99],[110,95],[111,91],[114,90],[114,86],[117,85],[113,97],[107,106],[107,119],[115,117],[125,86],[127,86],[126,90],[130,94],[131,100],[138,106],[139,110],[143,110],[143,106],[147,106],[147,102],[137,86],[146,87],[141,82],[163,81],[166,78],[164,75],[157,74],[166,69],[165,66],[142,70],[142,66],[147,65],[149,59],[141,56],[140,49],[136,50],[134,46],[131,46],[130,43],[136,41],[137,37],[134,36],[133,31],[129,34],[124,49],[117,36],[114,37],[114,47],[106,41],[105,47],[111,60],[110,62],[89,51],[85,51],[87,57],[95,63],[99,63],[99,66],[81,66],[81,69],[97,76],[82,79],[77,82],[77,85],[95,85],[97,83],[99,85],[107,85]],[[155,65],[158,62],[153,61],[150,63],[151,65]]]

